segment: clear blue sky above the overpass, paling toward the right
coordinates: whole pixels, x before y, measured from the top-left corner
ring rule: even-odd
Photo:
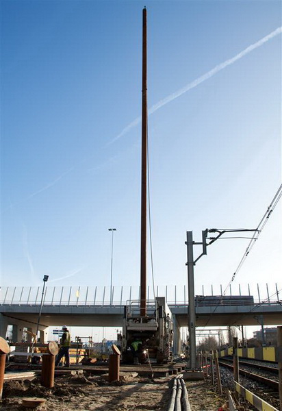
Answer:
[[[2,1],[3,286],[109,286],[110,227],[113,284],[139,285],[143,6]],[[281,27],[279,1],[146,6],[149,108]],[[155,284],[182,286],[185,232],[255,228],[281,184],[281,34],[151,114],[149,149]],[[281,288],[281,223],[279,203],[235,287]],[[209,247],[196,293],[247,244]]]

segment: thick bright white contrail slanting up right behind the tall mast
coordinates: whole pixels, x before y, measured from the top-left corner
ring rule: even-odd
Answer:
[[[207,73],[201,75],[201,77],[198,77],[193,82],[186,84],[186,86],[180,88],[179,90],[173,92],[171,95],[168,95],[164,99],[160,100],[158,103],[154,104],[148,110],[148,114],[149,115],[153,114],[155,111],[159,110],[159,108],[161,108],[163,105],[170,103],[170,101],[177,99],[177,97],[183,95],[185,92],[188,92],[192,88],[198,86],[198,84],[205,82],[205,80],[209,79],[210,77],[212,77],[219,71],[225,69],[225,67],[230,66],[231,64],[237,62],[237,60],[240,60],[240,58],[244,57],[244,55],[251,53],[251,51],[257,49],[258,47],[261,47],[262,45],[264,45],[265,42],[268,42],[268,40],[271,40],[272,38],[274,38],[275,36],[278,36],[281,33],[282,33],[282,27],[278,27],[276,30],[274,30],[267,36],[261,38],[259,41],[253,43],[253,45],[248,46],[246,49],[236,54],[234,57],[229,58],[229,60],[225,60],[225,62],[218,64],[217,66],[214,67],[214,69],[207,71]],[[133,127],[136,127],[136,125],[138,125],[140,121],[141,121],[141,117],[138,117],[137,119],[132,121],[132,123],[129,123],[129,125],[127,125],[127,127],[125,127],[123,131],[120,132],[120,134],[118,134],[118,136],[116,136],[109,142],[109,144],[112,144],[112,142],[118,140],[118,138],[123,137],[125,134],[127,134],[127,132],[129,132],[129,130],[131,130]]]

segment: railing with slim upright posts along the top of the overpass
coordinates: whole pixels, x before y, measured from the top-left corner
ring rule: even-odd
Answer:
[[[250,297],[255,303],[277,303],[281,301],[279,296],[280,288],[277,284],[271,287],[266,284],[264,287],[257,284],[253,294],[251,295],[251,287],[243,290],[239,286],[239,292],[231,290],[229,296],[222,297],[220,290],[222,287],[218,284],[216,287],[211,287],[209,295],[198,295],[196,306],[211,306],[218,305],[238,305],[236,298],[240,299],[241,305],[250,305]],[[202,292],[203,292],[202,288]],[[217,291],[217,293],[216,293]],[[244,291],[244,292],[243,292]],[[255,292],[257,291],[257,292]],[[280,291],[281,292],[281,291]],[[47,286],[44,292],[44,306],[109,306],[110,305],[110,287],[107,286]],[[42,297],[42,286],[10,286],[0,288],[0,304],[9,305],[40,305]],[[166,297],[166,301],[170,306],[179,306],[188,304],[188,288],[187,286],[156,286],[155,293],[153,288],[148,286],[147,299],[152,300],[155,297]],[[245,297],[245,298],[243,298]],[[112,306],[123,306],[133,300],[140,299],[140,286],[114,286],[112,287]],[[221,301],[222,300],[222,301]],[[282,303],[282,302],[281,302]]]

